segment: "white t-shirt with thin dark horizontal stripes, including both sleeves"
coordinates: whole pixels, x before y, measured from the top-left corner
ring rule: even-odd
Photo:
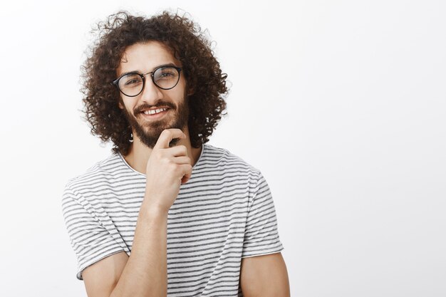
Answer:
[[[119,153],[68,181],[62,210],[78,279],[100,259],[121,251],[130,256],[145,183],[145,174]],[[242,296],[241,259],[282,249],[261,172],[204,144],[167,216],[167,295]]]

